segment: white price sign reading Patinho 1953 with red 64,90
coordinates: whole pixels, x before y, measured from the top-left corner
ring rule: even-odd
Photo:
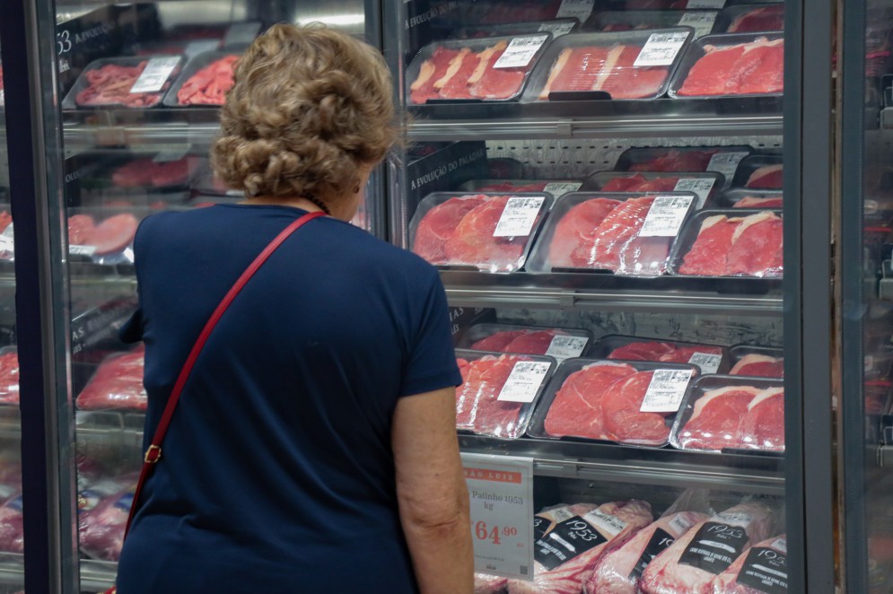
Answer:
[[[533,579],[533,459],[462,454],[475,571]]]

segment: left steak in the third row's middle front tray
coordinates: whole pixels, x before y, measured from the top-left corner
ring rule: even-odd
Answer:
[[[544,423],[547,434],[615,441],[605,429],[601,401],[617,381],[635,373],[635,367],[623,363],[593,363],[573,372],[549,406]]]

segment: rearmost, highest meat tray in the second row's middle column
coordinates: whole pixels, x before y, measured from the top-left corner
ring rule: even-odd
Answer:
[[[617,159],[617,171],[715,171],[731,184],[749,146],[674,146],[626,149]]]

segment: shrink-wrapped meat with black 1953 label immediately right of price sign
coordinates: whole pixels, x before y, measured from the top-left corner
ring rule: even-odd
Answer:
[[[533,581],[509,580],[509,594],[581,592],[601,557],[653,520],[651,506],[637,500],[569,505],[538,516]]]

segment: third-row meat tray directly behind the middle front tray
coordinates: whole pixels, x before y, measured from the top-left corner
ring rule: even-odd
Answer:
[[[724,373],[732,364],[731,353],[725,346],[620,334],[601,336],[586,356],[620,361],[688,363],[696,365],[701,373]]]

